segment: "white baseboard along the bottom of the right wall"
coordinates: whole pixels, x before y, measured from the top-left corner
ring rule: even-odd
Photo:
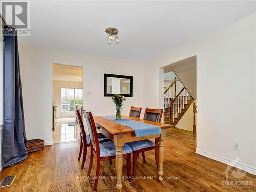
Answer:
[[[252,166],[249,166],[249,165],[246,165],[246,164],[242,164],[242,163],[234,164],[233,160],[231,160],[231,159],[227,159],[225,157],[221,157],[221,156],[218,156],[218,155],[200,150],[199,148],[196,149],[196,153],[199,154],[199,155],[208,157],[210,159],[220,161],[220,162],[225,163],[227,165],[230,165],[230,166],[233,166],[233,167],[236,167],[236,168],[240,168],[242,170],[245,170],[246,172],[249,172],[253,175],[256,175],[256,168],[255,167],[252,167]]]

